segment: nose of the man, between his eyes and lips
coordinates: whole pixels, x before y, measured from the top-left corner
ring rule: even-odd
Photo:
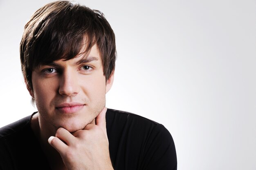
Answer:
[[[79,81],[75,73],[65,71],[60,75],[59,94],[66,96],[75,96],[79,93]]]

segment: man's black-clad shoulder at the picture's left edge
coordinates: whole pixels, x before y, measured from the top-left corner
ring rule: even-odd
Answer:
[[[31,129],[32,115],[0,128],[0,170],[32,169],[35,165],[48,169],[47,163],[40,164],[45,157]]]

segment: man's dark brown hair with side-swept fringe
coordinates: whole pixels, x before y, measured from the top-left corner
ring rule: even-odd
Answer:
[[[20,62],[27,87],[41,64],[76,57],[97,44],[106,81],[115,69],[115,34],[103,13],[69,1],[55,1],[38,9],[25,25],[20,42]],[[32,103],[34,100],[32,99]]]

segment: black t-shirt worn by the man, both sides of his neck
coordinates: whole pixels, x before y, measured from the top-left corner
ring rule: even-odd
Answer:
[[[0,128],[0,170],[50,170],[31,116]],[[173,138],[161,124],[108,109],[106,128],[115,170],[177,170]]]

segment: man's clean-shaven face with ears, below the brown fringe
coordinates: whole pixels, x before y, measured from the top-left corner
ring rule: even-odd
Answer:
[[[113,75],[106,82],[97,45],[88,57],[57,60],[32,72],[33,90],[39,119],[70,132],[83,129],[101,112]]]

